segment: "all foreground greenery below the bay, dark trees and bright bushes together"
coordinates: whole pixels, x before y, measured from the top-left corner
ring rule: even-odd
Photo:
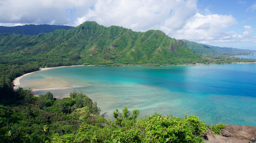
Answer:
[[[206,125],[198,117],[155,113],[137,119],[124,107],[115,121],[98,116],[99,108],[83,94],[55,99],[51,92],[34,97],[29,90],[14,91],[15,102],[0,104],[1,142],[202,142]],[[79,105],[79,102],[81,104]],[[3,105],[5,104],[5,105]],[[80,109],[77,109],[81,107]]]

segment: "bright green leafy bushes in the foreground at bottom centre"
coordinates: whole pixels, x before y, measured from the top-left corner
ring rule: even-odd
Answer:
[[[104,128],[99,128],[83,122],[76,134],[53,135],[52,142],[184,142],[200,143],[201,134],[206,130],[206,125],[194,115],[181,119],[172,115],[163,116],[155,113],[145,119],[136,120],[138,110],[130,116],[125,107],[123,114],[114,111],[115,123],[109,121]]]

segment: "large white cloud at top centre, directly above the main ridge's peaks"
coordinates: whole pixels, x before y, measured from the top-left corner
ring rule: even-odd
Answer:
[[[147,31],[164,23],[177,3],[176,0],[98,0],[94,5],[95,9],[89,9],[84,16],[77,18],[75,24],[96,21],[104,26],[118,25],[134,31]]]

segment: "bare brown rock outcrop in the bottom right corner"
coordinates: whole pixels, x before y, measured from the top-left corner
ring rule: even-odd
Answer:
[[[214,135],[206,130],[203,135],[205,143],[256,143],[256,128],[253,126],[226,125],[221,135]]]

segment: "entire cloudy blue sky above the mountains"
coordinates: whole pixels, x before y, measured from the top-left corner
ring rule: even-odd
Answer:
[[[256,49],[256,0],[0,0],[0,26],[78,26],[85,21]]]

